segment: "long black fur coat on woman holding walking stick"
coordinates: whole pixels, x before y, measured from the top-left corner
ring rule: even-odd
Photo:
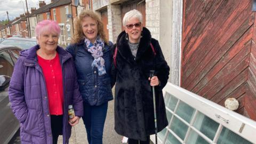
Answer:
[[[153,44],[154,55],[150,47]],[[112,47],[114,54],[116,44]],[[165,104],[162,89],[169,77],[169,66],[164,59],[161,47],[156,39],[151,38],[150,31],[143,28],[142,37],[134,60],[125,39],[125,31],[117,38],[116,67],[111,66],[111,85],[115,86],[115,130],[127,138],[145,141],[155,133],[153,93],[148,81],[149,70],[161,82],[155,86],[158,132],[167,126]]]

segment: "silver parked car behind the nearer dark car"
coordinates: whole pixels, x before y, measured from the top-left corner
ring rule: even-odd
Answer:
[[[23,50],[29,49],[30,47],[37,44],[36,38],[21,38],[21,37],[9,37],[5,38],[1,44],[18,46]]]

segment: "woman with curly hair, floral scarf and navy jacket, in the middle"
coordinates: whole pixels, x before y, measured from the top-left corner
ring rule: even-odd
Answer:
[[[84,100],[83,121],[89,144],[102,144],[108,101],[113,100],[110,85],[110,47],[99,15],[83,11],[75,22],[75,37],[67,51],[73,55],[79,91]]]

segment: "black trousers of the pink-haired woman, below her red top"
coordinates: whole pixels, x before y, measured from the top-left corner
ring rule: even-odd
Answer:
[[[51,115],[52,143],[58,143],[59,135],[62,135],[63,115]]]

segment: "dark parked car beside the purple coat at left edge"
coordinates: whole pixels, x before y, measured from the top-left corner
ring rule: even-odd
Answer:
[[[14,63],[21,49],[0,44],[0,143],[7,144],[19,130],[20,123],[10,108],[8,89]]]

